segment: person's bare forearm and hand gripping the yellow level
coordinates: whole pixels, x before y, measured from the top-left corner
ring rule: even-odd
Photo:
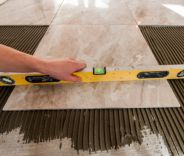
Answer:
[[[41,59],[0,45],[0,72],[39,72],[61,80],[80,81],[73,73],[85,67],[85,63],[75,59]]]

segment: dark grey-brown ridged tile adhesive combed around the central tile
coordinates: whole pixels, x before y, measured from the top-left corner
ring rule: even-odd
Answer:
[[[0,43],[33,54],[48,26],[0,26]],[[159,64],[184,63],[184,27],[140,26]],[[122,43],[123,44],[123,43]],[[20,127],[24,141],[71,138],[76,150],[109,150],[141,143],[147,126],[172,155],[184,154],[184,80],[170,80],[180,108],[2,111],[13,87],[0,87],[0,133]],[[58,145],[59,146],[59,145]],[[61,147],[62,148],[62,147]]]

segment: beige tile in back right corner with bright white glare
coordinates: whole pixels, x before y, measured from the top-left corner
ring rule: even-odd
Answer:
[[[124,0],[139,25],[184,25],[183,0]]]

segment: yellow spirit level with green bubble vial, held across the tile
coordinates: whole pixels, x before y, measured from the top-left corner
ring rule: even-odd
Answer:
[[[184,79],[184,65],[87,68],[76,72],[81,83],[104,81]],[[72,83],[40,73],[2,73],[0,86]]]

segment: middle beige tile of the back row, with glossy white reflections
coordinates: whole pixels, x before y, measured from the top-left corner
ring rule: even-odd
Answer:
[[[66,0],[53,24],[125,24],[136,22],[123,0]]]

